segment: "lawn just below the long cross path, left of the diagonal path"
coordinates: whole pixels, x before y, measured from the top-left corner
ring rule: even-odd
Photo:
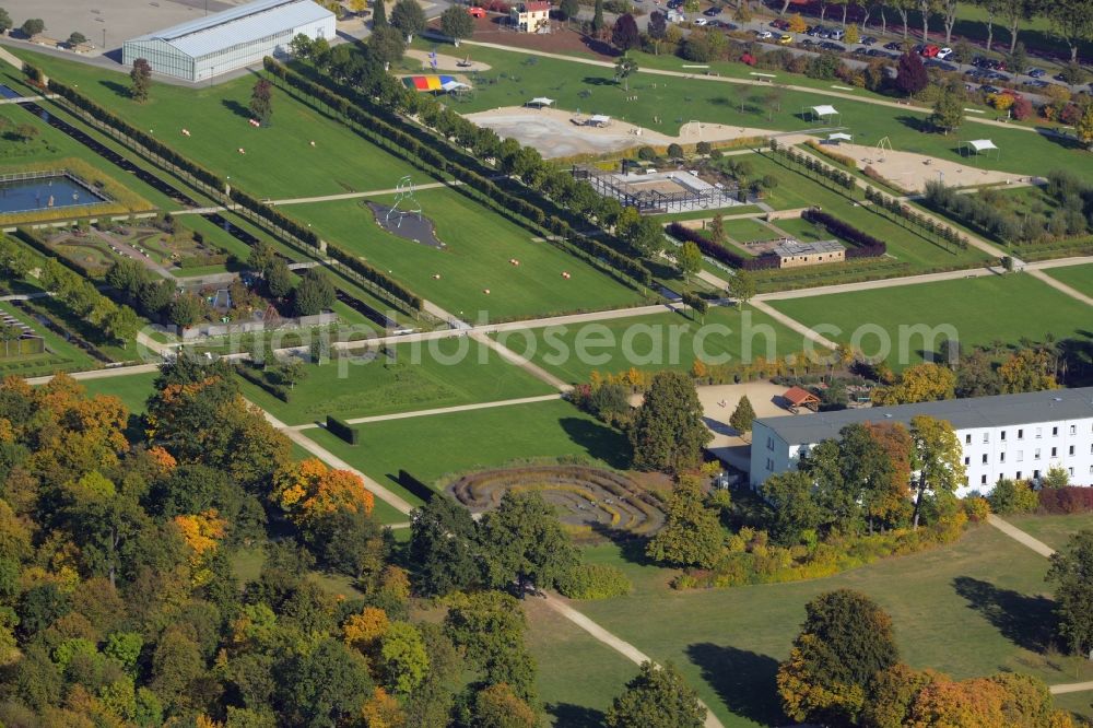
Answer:
[[[396,360],[367,355],[307,365],[307,378],[283,402],[242,380],[246,397],[286,424],[454,407],[554,391],[467,337],[399,344]]]

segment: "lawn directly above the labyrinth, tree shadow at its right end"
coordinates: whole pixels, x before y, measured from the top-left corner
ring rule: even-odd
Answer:
[[[567,402],[538,402],[357,425],[348,445],[325,430],[304,434],[412,503],[395,482],[399,469],[433,483],[446,473],[524,458],[590,458],[626,467],[625,438]],[[406,520],[403,518],[403,520]]]

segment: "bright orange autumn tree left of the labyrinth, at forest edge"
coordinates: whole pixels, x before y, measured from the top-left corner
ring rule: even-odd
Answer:
[[[274,473],[271,497],[297,526],[338,510],[371,514],[375,505],[360,475],[331,470],[317,458],[287,465]]]

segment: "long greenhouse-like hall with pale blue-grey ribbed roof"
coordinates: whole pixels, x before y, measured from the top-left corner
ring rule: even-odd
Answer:
[[[332,40],[334,33],[334,14],[312,0],[257,0],[126,40],[122,61],[144,58],[155,73],[203,81],[284,57],[297,35]]]

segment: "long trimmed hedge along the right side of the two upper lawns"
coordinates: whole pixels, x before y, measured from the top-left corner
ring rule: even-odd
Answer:
[[[566,249],[568,253],[577,251],[579,257],[590,256],[591,262],[603,262],[624,273],[626,277],[638,281],[642,285],[649,285],[651,283],[653,274],[640,262],[619,254],[611,247],[587,235],[576,232],[569,223],[561,218],[552,215],[548,220],[546,214],[540,207],[502,189],[493,180],[454,162],[434,149],[434,146],[422,143],[419,139],[420,132],[415,136],[392,124],[388,115],[373,114],[361,106],[352,105],[344,96],[310,81],[273,58],[267,57],[263,64],[271,75],[334,109],[345,119],[355,124],[365,136],[378,142],[392,154],[401,156],[431,174],[450,174],[463,183],[463,186],[460,188],[461,192],[478,199],[501,214],[506,216],[517,214],[534,225],[549,228],[554,235],[561,238],[552,239],[551,243]],[[531,191],[532,193],[537,193],[534,190]],[[581,256],[579,254],[585,255]]]

